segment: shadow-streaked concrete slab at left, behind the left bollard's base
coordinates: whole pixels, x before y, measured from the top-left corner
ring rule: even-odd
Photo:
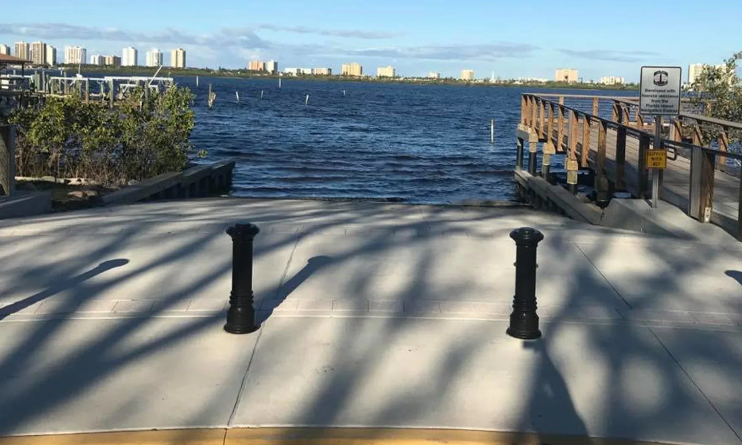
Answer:
[[[12,253],[0,267],[4,303],[157,300],[177,306],[185,300],[229,298],[232,240],[223,228],[191,234],[3,238],[10,239]],[[257,297],[275,291],[297,240],[297,234],[258,234]],[[170,309],[167,304],[157,308]]]

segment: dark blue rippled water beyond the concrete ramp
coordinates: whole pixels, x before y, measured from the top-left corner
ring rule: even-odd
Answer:
[[[513,195],[519,88],[284,79],[279,89],[276,80],[204,77],[196,88],[194,77],[177,82],[197,94],[195,147],[209,151],[209,162],[237,159],[234,196],[448,203]],[[209,83],[217,93],[213,110],[206,107]]]

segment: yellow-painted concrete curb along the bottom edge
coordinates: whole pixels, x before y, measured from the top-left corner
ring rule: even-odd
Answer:
[[[234,428],[93,432],[0,438],[0,445],[663,445],[532,432],[390,428]],[[668,444],[664,444],[668,445]]]

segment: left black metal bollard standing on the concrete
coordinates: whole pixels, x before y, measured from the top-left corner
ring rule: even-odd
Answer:
[[[232,334],[249,334],[260,328],[255,323],[252,307],[252,242],[260,232],[257,225],[237,223],[227,228],[232,237],[232,294],[224,330]]]

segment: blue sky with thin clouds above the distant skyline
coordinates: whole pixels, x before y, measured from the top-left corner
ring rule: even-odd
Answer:
[[[717,64],[742,50],[740,0],[0,0],[0,43],[41,40],[58,48],[139,63],[157,47],[183,47],[188,66],[284,67],[360,62],[400,76],[553,79],[558,67],[588,81],[637,81],[642,65]]]

